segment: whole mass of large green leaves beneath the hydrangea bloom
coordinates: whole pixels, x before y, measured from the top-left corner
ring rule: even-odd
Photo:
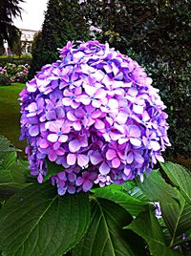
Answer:
[[[168,183],[153,170],[143,182],[60,197],[49,181],[34,182],[2,137],[0,158],[3,255],[189,255],[191,174],[182,166],[161,165]],[[55,168],[48,163],[48,173]]]

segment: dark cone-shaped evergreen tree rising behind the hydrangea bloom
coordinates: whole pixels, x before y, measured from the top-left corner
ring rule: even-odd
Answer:
[[[32,46],[31,77],[40,67],[58,58],[58,48],[68,41],[90,38],[88,25],[77,0],[50,0],[42,26]]]

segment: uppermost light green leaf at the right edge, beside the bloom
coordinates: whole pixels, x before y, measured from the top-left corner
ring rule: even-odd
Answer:
[[[172,183],[180,189],[185,200],[191,203],[191,173],[180,164],[167,161],[161,167]]]

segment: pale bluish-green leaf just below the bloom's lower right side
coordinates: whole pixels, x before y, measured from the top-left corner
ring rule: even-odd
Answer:
[[[153,170],[143,182],[138,181],[138,187],[150,201],[179,202],[177,190],[164,181],[159,171]]]

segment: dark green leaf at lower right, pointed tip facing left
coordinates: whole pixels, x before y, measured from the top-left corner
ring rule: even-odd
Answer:
[[[149,250],[152,255],[179,255],[165,245],[158,219],[155,217],[155,212],[150,208],[144,212],[141,212],[136,220],[125,228],[131,229],[141,236],[149,245]]]

